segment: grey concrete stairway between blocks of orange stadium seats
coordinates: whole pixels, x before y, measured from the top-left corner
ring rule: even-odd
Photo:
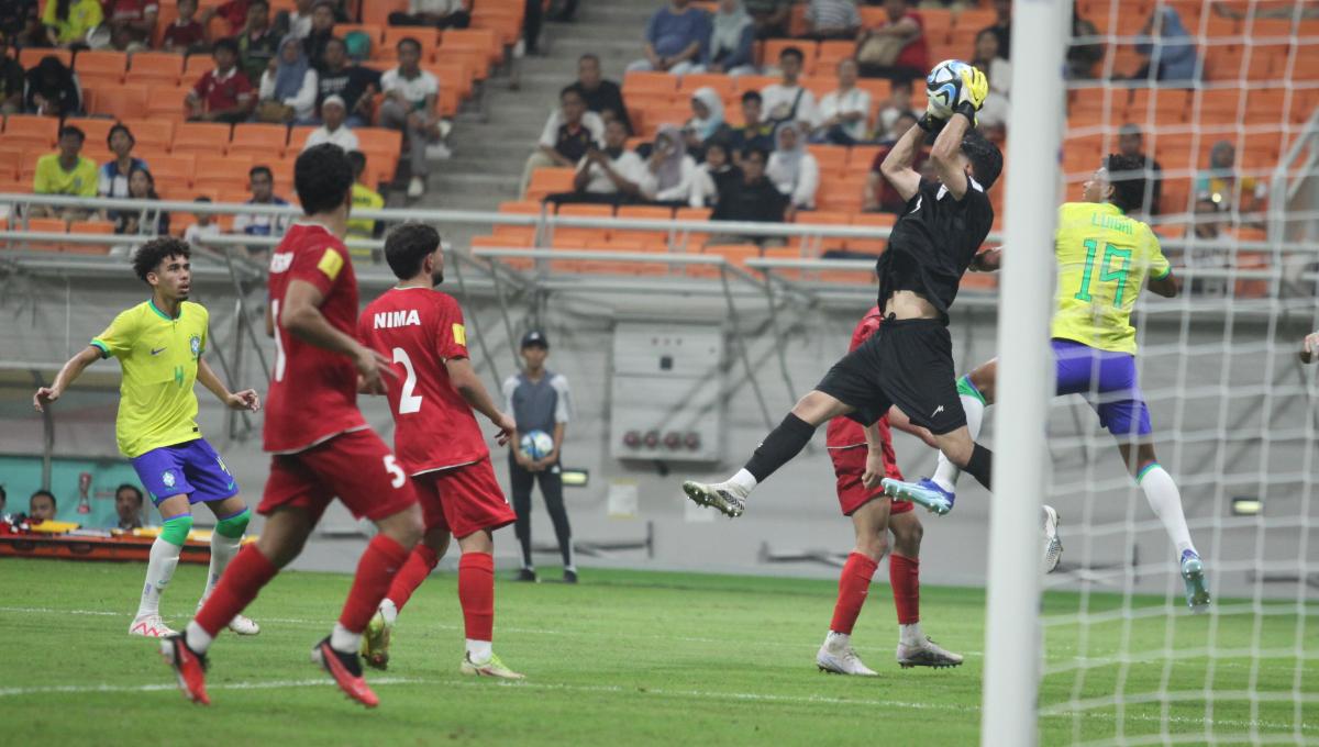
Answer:
[[[582,3],[575,22],[547,22],[541,55],[514,62],[517,88],[506,76],[492,76],[485,90],[487,119],[475,111],[455,119],[450,134],[454,155],[433,163],[422,207],[493,211],[500,202],[518,199],[522,166],[558,105],[559,90],[576,79],[578,57],[598,54],[604,75],[621,83],[624,67],[641,55],[641,33],[654,8],[652,0]],[[484,229],[454,227],[446,235],[464,241],[480,232]]]

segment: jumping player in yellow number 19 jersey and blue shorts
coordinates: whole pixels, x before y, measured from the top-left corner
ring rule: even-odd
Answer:
[[[1204,564],[1182,512],[1177,482],[1165,470],[1150,443],[1150,415],[1136,377],[1136,328],[1132,310],[1142,289],[1165,298],[1178,292],[1158,237],[1150,227],[1126,216],[1145,202],[1144,166],[1134,158],[1109,155],[1086,182],[1083,202],[1058,208],[1054,256],[1058,262],[1058,298],[1053,321],[1053,349],[1058,394],[1083,394],[1099,422],[1115,439],[1122,464],[1130,469],[1177,547],[1186,602],[1204,611],[1210,593]],[[983,256],[979,269],[993,270],[998,254]],[[993,403],[997,361],[989,361],[958,381],[971,436],[980,431],[984,408]],[[939,455],[939,468],[919,489],[935,490],[950,502],[959,470]],[[1058,515],[1045,514],[1045,568],[1062,557]]]

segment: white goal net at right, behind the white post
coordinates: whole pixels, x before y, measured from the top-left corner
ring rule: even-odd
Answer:
[[[1053,399],[1042,499],[1066,552],[1038,607],[995,621],[991,602],[989,626],[1038,610],[1041,744],[1319,744],[1319,366],[1298,358],[1319,329],[1319,3],[1080,0],[1071,33],[1059,198],[1080,200],[1104,155],[1138,157],[1138,217],[1181,285],[1175,298],[1144,290],[1132,315],[1170,480],[1133,478],[1140,456],[1124,464],[1087,403],[1115,397]],[[1030,65],[1028,45],[1016,51]],[[1122,257],[1103,252],[1086,279],[1119,282]],[[1153,510],[1170,485],[1212,595],[1203,614]],[[991,595],[995,584],[1010,581],[991,576]],[[995,661],[993,640],[988,668],[1029,668]]]

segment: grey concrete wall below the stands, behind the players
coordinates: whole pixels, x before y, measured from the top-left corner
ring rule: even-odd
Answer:
[[[4,285],[0,314],[0,360],[58,364],[99,332],[112,315],[141,300],[141,286],[117,279],[96,282],[50,278],[16,278]],[[212,350],[232,350],[233,294],[227,281],[202,279],[197,300],[211,310]],[[364,298],[377,290],[364,289]],[[456,290],[456,289],[448,289]],[[526,295],[526,294],[524,294]],[[521,298],[521,296],[520,296]],[[528,295],[528,298],[532,298]],[[539,298],[539,320],[554,348],[550,366],[566,374],[575,393],[576,418],[568,428],[565,462],[588,469],[590,485],[567,490],[574,531],[579,540],[620,541],[641,539],[646,522],[654,528],[654,556],[644,551],[620,551],[604,559],[583,557],[582,564],[623,564],[632,567],[687,568],[754,573],[801,573],[831,576],[835,570],[819,563],[769,563],[769,553],[845,553],[852,543],[849,522],[838,511],[834,476],[823,449],[823,436],[815,439],[797,461],[757,490],[748,514],[729,522],[689,510],[678,485],[683,478],[719,480],[736,469],[768,431],[745,370],[729,345],[728,379],[733,386],[727,414],[727,461],[723,465],[623,464],[608,458],[609,408],[625,402],[609,401],[609,350],[616,319],[724,319],[721,296],[667,295],[598,298],[561,291]],[[864,296],[859,296],[863,298]],[[480,333],[491,345],[500,375],[508,375],[513,357],[504,332],[499,306],[488,294],[467,298],[468,335],[474,357],[487,385],[497,387],[489,364],[475,337]],[[806,391],[847,346],[855,318],[865,308],[859,300],[845,311],[786,307],[780,321],[793,327],[782,343],[793,391],[780,374],[776,357],[781,344],[769,332],[764,303],[743,298],[739,311],[743,339],[749,345],[757,382],[777,423],[794,397]],[[1302,370],[1294,349],[1301,335],[1315,323],[1312,306],[1287,306],[1277,314],[1227,314],[1224,302],[1149,303],[1154,314],[1144,324],[1141,358],[1142,382],[1150,398],[1161,461],[1182,485],[1186,512],[1202,555],[1215,570],[1215,589],[1250,594],[1257,585],[1253,572],[1297,576],[1301,564],[1311,567],[1319,559],[1319,543],[1302,544],[1319,518],[1319,499],[1312,497],[1310,476],[1315,468],[1314,369]],[[520,335],[533,315],[532,307],[514,303],[510,308],[514,335]],[[960,370],[968,370],[995,353],[996,319],[992,308],[963,304],[954,319],[952,333]],[[262,339],[266,354],[270,345]],[[211,356],[212,365],[216,364]],[[244,353],[239,383],[257,386],[260,373],[251,349]],[[98,368],[113,373],[116,364]],[[54,368],[54,366],[53,366]],[[218,368],[218,366],[216,366]],[[112,377],[109,377],[112,378]],[[0,453],[40,452],[41,420],[32,412],[32,386],[12,372],[0,389]],[[260,418],[253,431],[227,432],[226,414],[199,389],[202,428],[226,456],[245,494],[255,501],[266,473],[266,457],[260,452]],[[644,398],[645,393],[636,393]],[[364,399],[368,419],[392,436],[383,399]],[[109,456],[113,453],[115,395],[83,391],[70,395],[57,408],[57,453]],[[992,412],[992,411],[991,411]],[[1079,398],[1054,402],[1049,423],[1050,452],[1041,455],[1053,465],[1047,499],[1062,515],[1064,564],[1076,567],[1116,567],[1104,584],[1158,592],[1178,588],[1171,574],[1173,549],[1150,514],[1144,495],[1125,477],[1124,468],[1097,418]],[[987,440],[997,448],[992,418]],[[929,474],[934,455],[915,440],[898,435],[900,462],[909,476]],[[497,457],[504,472],[503,455]],[[505,477],[501,474],[501,480]],[[607,495],[612,481],[634,484],[638,516],[611,519]],[[11,495],[15,490],[11,490]],[[1260,519],[1231,518],[1231,498],[1264,499]],[[1016,497],[1002,485],[998,499]],[[989,495],[969,478],[962,485],[956,510],[944,518],[922,516],[926,524],[922,570],[927,581],[940,584],[984,584]],[[1134,523],[1134,524],[1133,524]],[[331,515],[334,528],[352,528],[343,514]],[[537,544],[553,544],[553,532],[537,499],[533,519]],[[314,543],[303,567],[348,568],[356,555],[342,552],[350,540]],[[1307,549],[1302,549],[1306,547]],[[350,548],[351,549],[351,548]],[[1304,555],[1302,555],[1304,553]],[[516,557],[512,530],[500,532],[497,555],[501,564]],[[1137,565],[1132,567],[1136,559]],[[452,559],[450,559],[452,560]],[[553,555],[541,557],[554,563]],[[1310,570],[1319,570],[1310,568]],[[1103,573],[1101,573],[1103,576]],[[1051,577],[1057,584],[1074,584],[1075,576]],[[1269,595],[1297,595],[1295,584],[1262,586]]]

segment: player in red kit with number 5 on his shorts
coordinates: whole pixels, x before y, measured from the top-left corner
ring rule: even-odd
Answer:
[[[303,220],[270,256],[266,332],[274,336],[274,375],[266,394],[265,451],[270,477],[257,511],[261,538],[239,552],[182,635],[161,652],[183,694],[208,704],[206,651],[281,568],[302,552],[335,497],[380,530],[357,561],[334,631],[311,660],[365,706],[379,704],[361,677],[361,634],[394,574],[421,539],[422,518],[408,474],[357,410],[363,390],[384,393],[389,360],[357,341],[357,279],[343,245],[352,206],[352,166],[338,145],[302,152],[294,186]],[[397,382],[390,382],[397,383]]]

